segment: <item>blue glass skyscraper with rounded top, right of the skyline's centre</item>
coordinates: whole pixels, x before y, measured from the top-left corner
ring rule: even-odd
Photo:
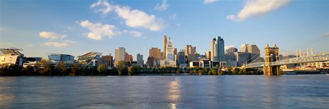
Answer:
[[[213,39],[215,42],[212,52],[212,61],[225,61],[225,55],[224,55],[224,40],[221,38],[221,36],[217,36]]]

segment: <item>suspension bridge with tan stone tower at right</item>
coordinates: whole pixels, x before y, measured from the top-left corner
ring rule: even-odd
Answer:
[[[264,75],[271,76],[271,75],[280,75],[280,65],[292,65],[292,64],[299,64],[299,63],[316,63],[316,62],[326,62],[329,61],[329,52],[319,53],[317,55],[313,55],[313,50],[311,55],[298,55],[296,51],[296,55],[292,55],[291,52],[287,52],[282,50],[282,54],[279,55],[279,48],[274,44],[273,48],[265,46],[265,53],[264,59],[256,59],[251,63],[245,63],[244,67],[246,68],[257,68],[263,67]],[[254,58],[254,57],[253,57]],[[252,58],[252,59],[253,59]],[[258,55],[256,58],[261,58]]]

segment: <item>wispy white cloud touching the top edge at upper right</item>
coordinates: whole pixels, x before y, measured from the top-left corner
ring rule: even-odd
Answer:
[[[252,16],[260,16],[287,5],[289,0],[249,0],[237,15],[228,15],[228,20],[243,21]]]

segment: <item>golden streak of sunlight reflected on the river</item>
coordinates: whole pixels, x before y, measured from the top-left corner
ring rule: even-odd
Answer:
[[[169,88],[167,90],[167,97],[169,98],[169,106],[172,109],[176,109],[176,105],[180,102],[181,97],[181,86],[180,78],[175,78],[174,81],[169,82]]]

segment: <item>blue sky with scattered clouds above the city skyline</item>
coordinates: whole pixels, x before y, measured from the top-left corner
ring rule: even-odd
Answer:
[[[26,57],[48,53],[75,57],[87,52],[114,55],[160,48],[162,37],[173,47],[210,50],[221,36],[226,47],[266,44],[295,52],[329,52],[327,0],[0,0],[0,48],[21,48]]]

